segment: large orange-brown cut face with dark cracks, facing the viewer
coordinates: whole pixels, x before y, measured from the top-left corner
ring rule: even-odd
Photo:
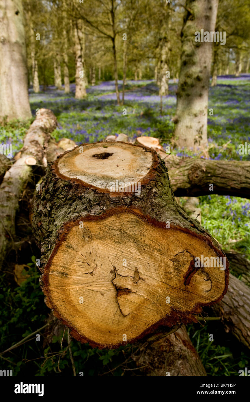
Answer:
[[[128,212],[81,225],[69,229],[43,281],[58,316],[85,341],[112,347],[126,334],[130,342],[173,309],[189,312],[225,289],[220,268],[200,268],[187,279],[195,256],[216,257],[201,237]]]

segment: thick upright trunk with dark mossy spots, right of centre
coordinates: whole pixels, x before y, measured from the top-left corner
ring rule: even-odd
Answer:
[[[186,0],[181,32],[175,139],[180,147],[207,146],[207,104],[212,42],[195,42],[195,32],[214,31],[218,0]]]

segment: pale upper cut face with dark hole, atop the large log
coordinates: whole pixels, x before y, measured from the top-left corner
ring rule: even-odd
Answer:
[[[80,152],[82,150],[83,152]],[[151,152],[125,143],[86,144],[63,155],[57,173],[76,178],[84,184],[110,189],[110,183],[137,183],[148,174],[153,162]]]

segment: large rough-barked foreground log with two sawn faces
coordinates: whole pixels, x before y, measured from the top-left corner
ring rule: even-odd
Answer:
[[[33,233],[47,306],[92,346],[196,321],[226,293],[224,253],[179,208],[149,148],[100,142],[59,156],[35,199]],[[196,267],[203,256],[209,263]]]

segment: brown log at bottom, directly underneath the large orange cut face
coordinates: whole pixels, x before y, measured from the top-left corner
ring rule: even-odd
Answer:
[[[136,351],[134,360],[147,376],[206,375],[185,326],[152,343],[145,342]]]

